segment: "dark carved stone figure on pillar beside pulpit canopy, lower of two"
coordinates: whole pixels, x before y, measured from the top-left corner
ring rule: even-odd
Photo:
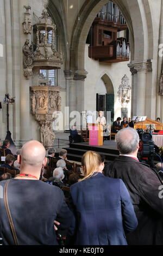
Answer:
[[[26,40],[23,46],[23,67],[24,69],[33,67],[33,49],[32,45],[29,45],[29,39]]]

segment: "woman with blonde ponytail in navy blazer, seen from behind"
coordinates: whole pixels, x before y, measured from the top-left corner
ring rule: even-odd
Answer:
[[[70,208],[77,218],[75,245],[127,245],[125,231],[137,227],[129,193],[121,179],[102,174],[101,156],[82,157],[84,178],[70,187]]]

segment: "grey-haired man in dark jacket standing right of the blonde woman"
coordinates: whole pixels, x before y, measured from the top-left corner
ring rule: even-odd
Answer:
[[[163,245],[163,200],[159,198],[162,185],[159,175],[147,164],[139,162],[139,135],[133,128],[117,133],[120,156],[107,164],[104,174],[122,179],[128,188],[138,220],[138,227],[127,235],[129,245]]]

